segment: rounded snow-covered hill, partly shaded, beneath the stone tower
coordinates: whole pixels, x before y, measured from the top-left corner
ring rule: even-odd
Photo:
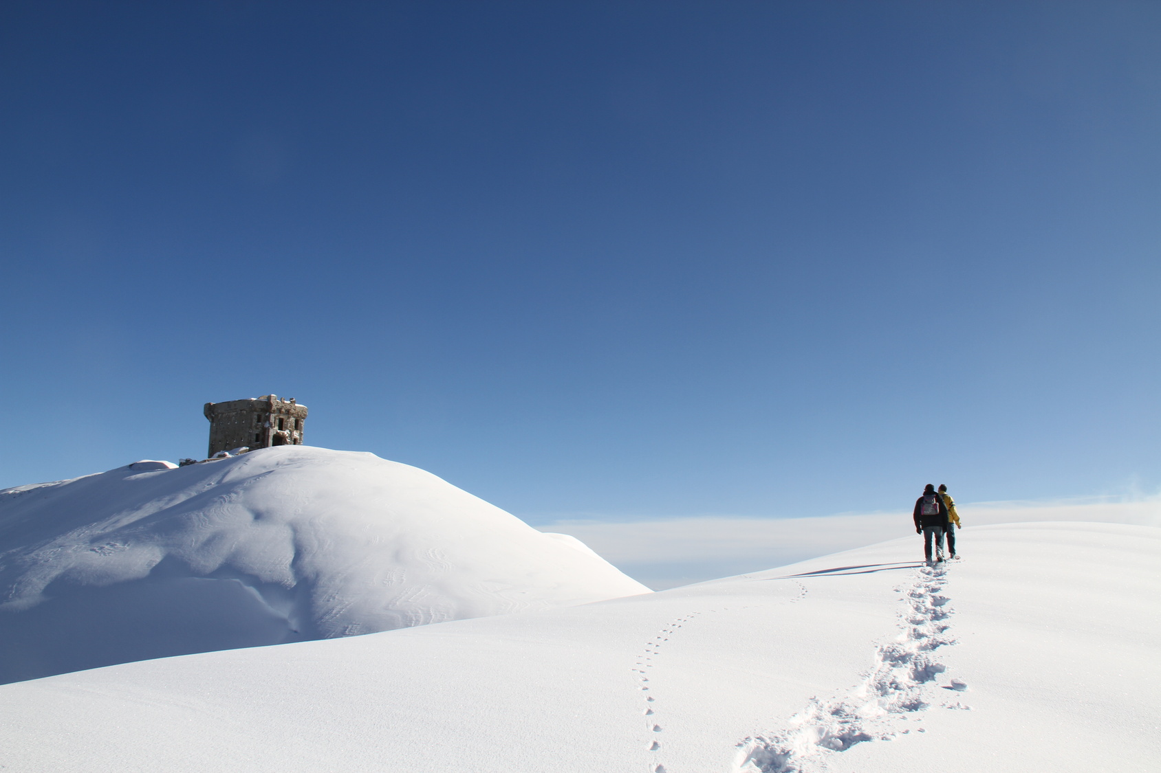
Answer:
[[[0,681],[647,592],[373,454],[284,446],[0,491]]]

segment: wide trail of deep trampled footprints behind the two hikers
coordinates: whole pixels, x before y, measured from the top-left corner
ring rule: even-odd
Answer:
[[[783,732],[742,741],[735,773],[807,773],[825,765],[827,756],[854,744],[909,732],[897,729],[899,721],[930,708],[931,682],[945,671],[932,652],[956,643],[944,622],[952,613],[947,597],[940,594],[946,573],[946,568],[922,566],[910,586],[896,588],[903,593],[902,630],[875,650],[875,665],[863,684],[845,698],[810,699]],[[957,692],[966,688],[958,679],[947,686]],[[959,702],[944,707],[971,708]]]

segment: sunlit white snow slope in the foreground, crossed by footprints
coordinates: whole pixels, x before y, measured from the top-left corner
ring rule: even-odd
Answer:
[[[909,534],[597,604],[10,684],[0,765],[1153,770],[1161,529],[978,526],[958,548],[924,568]]]

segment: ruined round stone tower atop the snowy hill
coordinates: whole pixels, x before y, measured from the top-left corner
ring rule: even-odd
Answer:
[[[202,412],[210,420],[210,451],[207,456],[241,446],[301,446],[302,425],[307,422],[305,405],[298,405],[293,397],[281,400],[277,395],[207,403]]]

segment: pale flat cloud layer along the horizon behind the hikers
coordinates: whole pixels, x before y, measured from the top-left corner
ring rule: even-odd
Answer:
[[[967,530],[957,549],[971,558],[971,528],[1025,521],[1099,521],[1161,527],[1161,498],[1072,499],[957,505]],[[792,564],[913,534],[909,513],[821,518],[695,516],[648,521],[561,520],[538,527],[570,534],[654,590]],[[916,540],[916,554],[922,546]]]

